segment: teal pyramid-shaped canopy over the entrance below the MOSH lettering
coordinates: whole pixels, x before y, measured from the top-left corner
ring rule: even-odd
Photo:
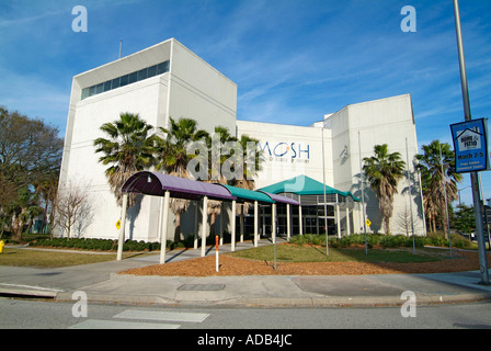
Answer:
[[[260,190],[272,194],[294,193],[297,195],[322,195],[324,193],[324,184],[310,177],[298,176],[279,183],[261,188]],[[326,185],[326,194],[340,194],[342,196],[351,196],[354,201],[359,201],[351,192],[340,191],[329,185]]]

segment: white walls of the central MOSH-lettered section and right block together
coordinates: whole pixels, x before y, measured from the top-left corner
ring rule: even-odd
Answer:
[[[359,159],[374,155],[374,146],[388,144],[390,152],[400,152],[407,161],[406,138],[410,172],[414,172],[412,160],[418,154],[415,125],[409,94],[356,103],[326,115],[326,123],[312,124],[311,127],[278,125],[258,122],[237,121],[238,136],[248,134],[261,141],[264,148],[266,141],[272,148],[279,143],[296,143],[309,145],[310,159],[308,163],[293,167],[292,154],[283,157],[270,156],[265,149],[266,162],[264,170],[256,178],[256,188],[266,186],[299,174],[306,174],[322,182],[322,144],[321,126],[324,128],[326,183],[341,191],[350,191],[356,197],[362,197],[359,183]],[[358,138],[359,133],[359,138]],[[361,146],[358,143],[361,141]],[[362,154],[359,154],[359,147]],[[281,148],[279,148],[281,149]],[[283,162],[282,162],[283,161]],[[408,180],[399,182],[399,194],[393,201],[391,231],[406,234],[404,216],[410,217],[412,206],[414,231],[425,233],[421,206],[420,181],[418,177],[411,182],[412,196],[410,205]],[[367,217],[373,223],[368,231],[384,233],[381,217],[378,215],[378,200],[365,184],[365,205]],[[354,231],[359,233],[364,218],[362,211],[354,213]]]

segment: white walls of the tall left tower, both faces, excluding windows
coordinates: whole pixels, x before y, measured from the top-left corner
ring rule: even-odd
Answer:
[[[170,60],[168,73],[135,82],[81,101],[83,88]],[[237,86],[175,39],[169,39],[140,53],[94,68],[73,78],[70,99],[60,185],[87,184],[94,216],[84,237],[117,238],[115,223],[121,208],[110,189],[104,171],[110,166],[99,162],[93,141],[105,137],[100,127],[118,120],[122,112],[138,113],[155,127],[167,127],[169,115],[191,117],[199,128],[213,132],[222,125],[236,131]],[[127,238],[158,241],[160,199],[138,196],[128,211]],[[168,238],[173,238],[170,214]],[[59,234],[59,231],[57,233]]]

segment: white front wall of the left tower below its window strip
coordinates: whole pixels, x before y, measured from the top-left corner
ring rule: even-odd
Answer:
[[[121,216],[121,208],[116,205],[104,173],[110,166],[99,162],[101,155],[95,154],[93,145],[98,137],[107,138],[100,127],[104,123],[118,120],[122,112],[138,113],[142,120],[156,126],[159,115],[156,101],[165,98],[167,79],[163,75],[84,99],[77,104],[71,131],[70,157],[64,165],[64,171],[67,174],[65,180],[67,185],[76,183],[89,186],[94,216],[85,229],[85,237],[115,237],[117,235],[115,223]],[[157,238],[158,215],[153,208],[157,200],[150,196],[142,197],[137,204],[140,207],[137,217],[132,211],[128,212],[126,233],[132,238],[137,240]]]

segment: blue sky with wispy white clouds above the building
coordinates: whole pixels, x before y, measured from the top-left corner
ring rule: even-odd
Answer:
[[[71,29],[76,5],[87,33]],[[404,5],[415,33],[401,31]],[[489,117],[491,1],[460,1],[460,14],[472,117]],[[411,93],[420,146],[452,145],[464,121],[453,0],[0,0],[0,104],[64,134],[73,76],[117,59],[121,38],[126,56],[170,37],[238,84],[240,120],[310,125]]]

